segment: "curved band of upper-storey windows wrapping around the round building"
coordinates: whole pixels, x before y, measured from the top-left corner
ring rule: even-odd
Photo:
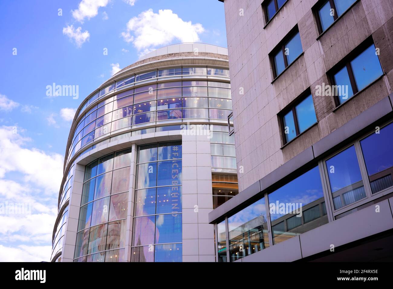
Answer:
[[[230,84],[223,82],[174,81],[122,91],[100,101],[79,120],[68,160],[93,140],[125,128],[183,119],[227,120],[231,109]]]

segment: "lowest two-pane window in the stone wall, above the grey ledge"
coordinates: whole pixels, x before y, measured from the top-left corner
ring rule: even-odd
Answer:
[[[308,94],[308,93],[307,93]],[[312,95],[297,102],[283,115],[284,142],[287,143],[317,122]]]

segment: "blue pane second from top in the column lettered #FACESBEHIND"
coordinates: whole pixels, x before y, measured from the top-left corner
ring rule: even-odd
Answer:
[[[182,184],[182,161],[167,160],[158,162],[157,186]]]

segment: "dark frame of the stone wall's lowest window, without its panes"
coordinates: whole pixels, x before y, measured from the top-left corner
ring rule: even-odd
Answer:
[[[305,100],[309,96],[311,96],[311,98],[312,98],[312,93],[311,93],[311,88],[310,87],[307,88],[305,91],[303,91],[294,101],[292,101],[290,104],[288,104],[285,107],[285,109],[283,109],[283,110],[281,110],[281,112],[279,112],[278,116],[279,116],[279,121],[280,121],[280,124],[281,124],[281,134],[283,135],[284,145],[289,144],[290,142],[295,140],[300,134],[304,133],[305,131],[310,129],[310,127],[313,127],[315,125],[315,123],[314,123],[313,125],[308,127],[305,131],[300,133],[298,114],[296,113],[296,106],[299,105],[303,100]],[[314,103],[314,99],[312,99],[312,102]],[[291,112],[291,111],[292,111],[292,115],[293,115],[293,118],[294,118],[296,136],[294,138],[292,138],[292,140],[287,141],[286,140],[286,133],[285,133],[284,116],[286,116],[286,114],[288,114],[288,112]],[[315,112],[315,105],[314,105],[314,112]],[[316,123],[318,123],[318,120],[316,121]]]

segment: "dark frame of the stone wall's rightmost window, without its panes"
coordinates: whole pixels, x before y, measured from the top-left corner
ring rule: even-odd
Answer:
[[[326,74],[328,76],[328,80],[330,81],[330,83],[332,85],[336,85],[336,81],[334,79],[334,75],[336,73],[338,73],[340,70],[342,70],[344,67],[346,67],[347,71],[348,71],[348,76],[349,76],[349,81],[351,83],[353,96],[348,98],[343,103],[340,103],[339,96],[336,96],[336,95],[332,96],[332,98],[334,98],[334,104],[336,105],[335,108],[343,105],[344,103],[347,103],[347,101],[349,101],[349,99],[351,99],[354,96],[356,96],[360,91],[365,90],[367,87],[369,87],[369,85],[371,85],[374,82],[374,81],[372,81],[365,88],[362,88],[361,90],[358,90],[358,87],[356,85],[355,76],[354,76],[354,73],[353,73],[353,70],[352,70],[352,66],[351,66],[351,61],[353,61],[356,57],[358,57],[361,53],[363,53],[371,45],[375,46],[375,42],[373,40],[373,36],[372,35],[367,37],[367,39],[365,39],[362,43],[360,43],[358,46],[356,46],[356,48],[354,50],[352,50],[350,53],[345,55],[345,57],[343,57],[343,59],[341,59],[329,71],[326,72]],[[385,72],[384,72],[384,68],[382,67],[381,60],[379,59],[379,55],[377,55],[377,57],[378,57],[379,65],[381,66],[382,75],[384,75]]]

